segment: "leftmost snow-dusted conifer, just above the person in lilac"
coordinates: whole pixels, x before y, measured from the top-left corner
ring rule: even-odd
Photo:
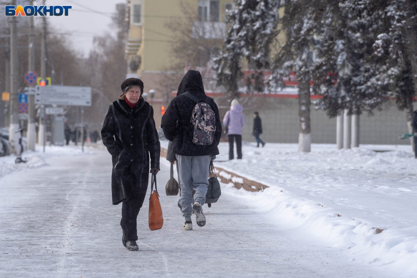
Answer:
[[[243,78],[242,59],[254,73],[246,82],[248,91],[263,92],[262,70],[269,69],[270,45],[278,34],[280,0],[236,0],[228,12],[228,30],[223,49],[214,58],[218,85],[226,88],[229,100],[238,97]]]

